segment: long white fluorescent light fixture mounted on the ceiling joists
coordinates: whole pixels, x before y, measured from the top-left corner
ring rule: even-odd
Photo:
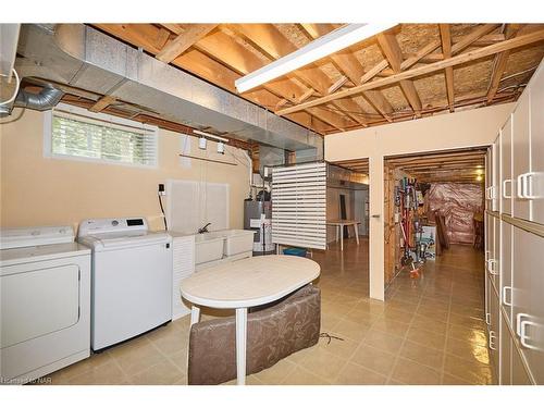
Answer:
[[[396,24],[347,24],[335,29],[307,46],[282,57],[274,62],[254,71],[234,82],[238,92],[245,92],[259,85],[265,84],[272,79],[283,76],[292,71],[298,70],[305,65],[316,62],[324,57],[341,51],[354,44],[370,38],[378,33],[382,33]]]

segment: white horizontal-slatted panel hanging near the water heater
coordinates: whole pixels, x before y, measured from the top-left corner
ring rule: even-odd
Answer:
[[[302,248],[326,246],[326,164],[272,170],[272,242]]]

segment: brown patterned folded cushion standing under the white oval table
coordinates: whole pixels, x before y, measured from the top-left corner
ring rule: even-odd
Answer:
[[[321,292],[307,285],[258,309],[247,319],[247,374],[272,367],[281,359],[319,341]],[[234,317],[196,323],[190,329],[188,384],[221,384],[236,378]]]

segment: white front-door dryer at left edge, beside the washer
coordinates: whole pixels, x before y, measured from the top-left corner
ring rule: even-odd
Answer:
[[[90,250],[73,228],[4,228],[0,249],[0,384],[89,357]]]

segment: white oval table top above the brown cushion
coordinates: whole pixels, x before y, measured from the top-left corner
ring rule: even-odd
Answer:
[[[319,263],[287,255],[267,255],[225,262],[182,281],[182,296],[197,306],[248,308],[277,300],[312,282]]]

